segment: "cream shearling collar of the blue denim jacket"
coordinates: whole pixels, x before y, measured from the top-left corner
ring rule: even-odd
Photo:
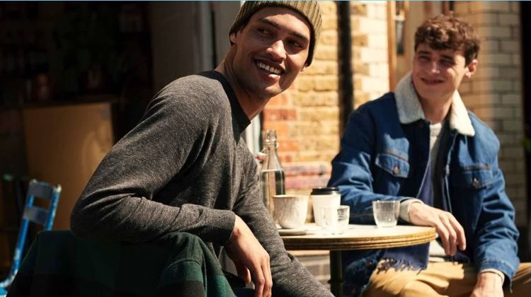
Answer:
[[[413,81],[411,81],[411,72],[406,74],[396,85],[394,95],[401,124],[410,124],[426,118],[413,86]],[[476,134],[474,127],[472,127],[467,107],[464,107],[463,100],[461,100],[461,96],[457,91],[452,96],[452,106],[450,107],[448,119],[450,120],[450,129],[457,130],[459,134],[464,136],[474,136]]]

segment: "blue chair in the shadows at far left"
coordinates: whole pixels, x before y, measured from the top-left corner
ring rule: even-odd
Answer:
[[[21,265],[29,223],[33,222],[42,225],[44,231],[51,230],[55,219],[57,203],[59,202],[59,194],[61,194],[61,185],[54,186],[38,180],[30,181],[28,193],[26,194],[24,212],[21,219],[21,227],[18,231],[13,262],[11,264],[11,271],[7,278],[0,282],[0,297],[7,294],[6,288],[11,285],[11,282],[18,272],[18,267]],[[35,197],[50,200],[50,206],[47,208],[34,206],[33,202]]]

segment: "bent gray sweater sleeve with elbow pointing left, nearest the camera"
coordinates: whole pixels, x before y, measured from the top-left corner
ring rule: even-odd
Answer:
[[[143,242],[185,231],[220,245],[229,239],[235,219],[232,211],[153,200],[170,181],[185,177],[202,153],[209,119],[202,120],[205,117],[198,115],[193,100],[187,102],[176,103],[169,92],[159,95],[137,127],[113,146],[74,206],[74,235]]]

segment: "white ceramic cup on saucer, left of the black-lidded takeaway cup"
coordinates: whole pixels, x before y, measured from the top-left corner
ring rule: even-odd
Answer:
[[[280,227],[296,229],[304,226],[308,212],[307,195],[273,195],[273,204],[275,205],[274,218]]]

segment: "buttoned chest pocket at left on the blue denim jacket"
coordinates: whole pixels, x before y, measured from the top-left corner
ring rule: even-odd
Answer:
[[[390,153],[378,153],[375,158],[377,171],[373,173],[373,189],[379,194],[396,195],[409,176],[409,162]]]

